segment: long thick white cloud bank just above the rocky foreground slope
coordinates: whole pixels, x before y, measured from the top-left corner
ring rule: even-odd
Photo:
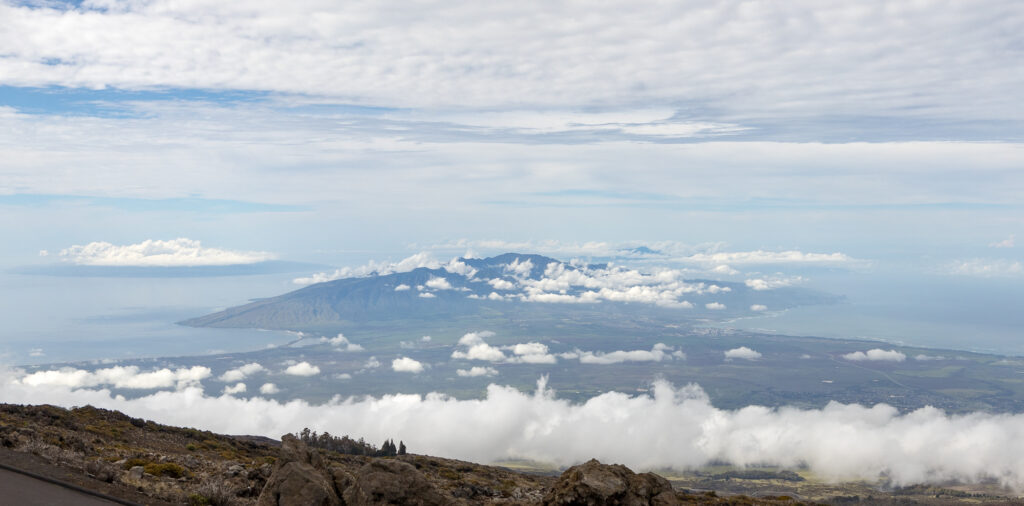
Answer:
[[[210,396],[196,386],[128,399],[108,390],[30,386],[7,376],[0,381],[7,403],[91,405],[161,423],[270,437],[296,427],[369,440],[400,434],[417,441],[417,452],[475,462],[566,466],[597,458],[636,470],[728,462],[806,466],[825,480],[885,476],[900,487],[995,479],[1024,490],[1024,415],[946,415],[935,408],[901,415],[886,405],[839,403],[813,410],[722,410],[699,387],[666,381],[655,381],[650,393],[607,392],[583,403],[556,398],[541,381],[532,393],[493,384],[482,399],[388,394],[310,405]]]

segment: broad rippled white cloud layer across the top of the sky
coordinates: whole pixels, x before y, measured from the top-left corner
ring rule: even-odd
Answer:
[[[1000,52],[1016,40],[1013,2],[987,2],[984,9],[914,4],[885,16],[878,15],[887,6],[882,0],[856,9],[810,1],[737,5],[670,2],[637,11],[618,1],[553,12],[535,1],[504,7],[496,16],[473,2],[411,6],[400,13],[337,3],[317,6],[323,15],[310,31],[306,3],[5,3],[0,16],[8,49],[0,74],[15,86],[257,90],[416,109],[685,102],[724,110],[727,117],[828,111],[887,118],[905,108],[926,117],[1007,120],[1018,112],[1010,98],[1018,84],[1010,70],[1014,54]],[[584,16],[586,24],[569,23]],[[57,26],[76,37],[40,30]],[[665,34],[663,43],[645,44],[652,33]],[[424,40],[433,43],[417,43]],[[877,47],[899,50],[882,65]],[[521,65],[524,52],[532,55],[527,67]],[[971,58],[975,54],[990,56]],[[762,65],[768,58],[772,65]],[[485,65],[473,65],[479,61]],[[720,61],[730,66],[713,71]],[[829,69],[826,76],[822,68]],[[963,75],[988,92],[957,84]],[[449,86],[453,82],[463,85]],[[555,117],[554,125],[552,115],[531,113],[501,122],[539,130],[593,125],[653,136],[735,128],[670,119],[672,113],[578,113]]]

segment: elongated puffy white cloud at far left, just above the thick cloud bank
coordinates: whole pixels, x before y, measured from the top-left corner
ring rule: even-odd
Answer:
[[[153,389],[183,388],[209,378],[210,368],[196,366],[188,369],[160,369],[141,373],[137,366],[115,366],[108,369],[85,371],[63,368],[38,371],[20,378],[29,386],[63,386],[68,388],[88,388],[110,385],[115,388]]]

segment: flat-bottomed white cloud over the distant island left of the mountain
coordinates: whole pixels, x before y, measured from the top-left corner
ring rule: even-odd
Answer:
[[[199,241],[174,239],[146,240],[118,246],[95,242],[60,250],[62,260],[77,265],[117,267],[195,267],[239,265],[272,260],[274,255],[256,251],[229,251],[204,248]]]

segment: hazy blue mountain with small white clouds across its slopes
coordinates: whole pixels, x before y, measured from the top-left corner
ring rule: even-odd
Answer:
[[[180,322],[191,327],[303,330],[333,324],[436,320],[488,313],[671,311],[675,318],[735,317],[753,304],[772,309],[834,300],[794,288],[683,280],[534,254],[459,258],[436,267],[374,272],[317,283],[276,297]],[[710,305],[709,305],[710,304]],[[628,306],[628,307],[627,307]]]

